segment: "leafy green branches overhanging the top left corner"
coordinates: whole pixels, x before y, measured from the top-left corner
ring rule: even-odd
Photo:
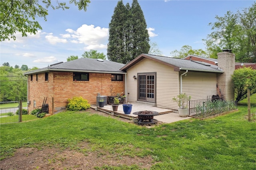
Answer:
[[[6,39],[16,39],[14,33],[22,33],[22,37],[28,33],[36,34],[38,29],[42,29],[36,18],[44,18],[48,15],[47,8],[68,9],[66,2],[58,2],[56,6],[51,0],[1,0],[0,1],[0,41]],[[90,0],[69,0],[74,3],[79,10],[86,11]],[[44,7],[43,7],[44,6]]]

